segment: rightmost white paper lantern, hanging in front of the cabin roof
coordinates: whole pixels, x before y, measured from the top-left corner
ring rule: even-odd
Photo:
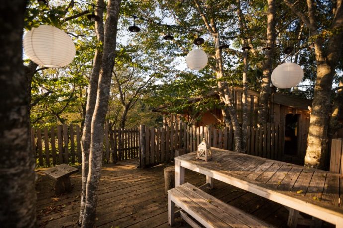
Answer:
[[[277,88],[287,89],[298,85],[303,76],[303,69],[298,64],[287,62],[274,69],[271,81]]]

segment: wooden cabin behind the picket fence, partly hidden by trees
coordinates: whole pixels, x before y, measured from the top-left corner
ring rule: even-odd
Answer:
[[[234,106],[237,110],[237,117],[242,123],[242,93],[243,89],[234,87],[231,89]],[[213,96],[219,99],[218,95],[211,91],[206,97]],[[204,97],[189,98],[190,103],[196,103]],[[248,90],[248,126],[258,128],[258,103],[259,92]],[[278,150],[282,160],[292,163],[302,164],[306,153],[307,134],[310,123],[311,100],[302,99],[290,95],[271,95],[269,102],[268,122],[274,126],[278,125]],[[221,109],[212,109],[204,113],[191,115],[192,107],[185,110],[183,114],[173,115],[166,112],[166,106],[156,109],[164,114],[164,124],[182,121],[193,123],[195,126],[219,126],[223,125],[223,115]],[[197,118],[198,117],[198,118]],[[198,119],[196,121],[192,119]]]

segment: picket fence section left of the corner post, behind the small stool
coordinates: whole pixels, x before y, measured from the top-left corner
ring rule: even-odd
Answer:
[[[81,129],[78,125],[58,125],[31,129],[32,152],[39,166],[81,163]],[[138,128],[109,129],[105,125],[103,160],[105,163],[139,156]]]

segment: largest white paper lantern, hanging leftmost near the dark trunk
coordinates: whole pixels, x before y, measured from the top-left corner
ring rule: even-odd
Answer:
[[[75,56],[72,38],[50,25],[41,25],[28,31],[24,36],[23,46],[27,57],[45,67],[64,67]]]

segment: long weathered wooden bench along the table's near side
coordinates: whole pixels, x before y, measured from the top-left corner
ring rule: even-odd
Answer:
[[[208,228],[273,227],[203,192],[190,183],[184,183],[168,191],[168,222],[171,226],[174,225],[175,204],[182,209],[181,218],[196,228],[200,226],[187,214]]]

